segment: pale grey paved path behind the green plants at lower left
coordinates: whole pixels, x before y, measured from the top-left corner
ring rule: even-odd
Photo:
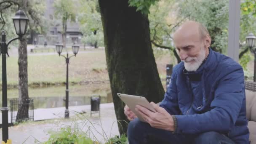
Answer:
[[[88,128],[90,128],[91,132],[88,133],[90,137],[93,139],[98,139],[103,143],[105,142],[104,139],[119,135],[113,103],[101,104],[100,117],[98,113],[95,113],[92,115],[92,117],[90,117],[90,105],[69,108],[71,117],[76,117],[76,112],[74,111],[86,112],[84,117],[82,115],[78,115],[79,117],[83,117],[84,120],[79,120],[78,118],[77,120],[55,119],[43,122],[41,121],[19,124],[9,127],[9,138],[12,139],[13,144],[37,144],[39,142],[35,142],[35,139],[43,142],[49,138],[49,135],[47,133],[48,131],[56,131],[58,128],[61,128],[64,125],[74,126],[74,123],[79,123],[79,128],[83,128],[82,131],[87,131]],[[52,109],[37,109],[37,111],[35,112],[35,119],[39,120],[64,117],[64,109],[64,107]],[[88,119],[85,117],[88,117]],[[94,124],[90,124],[89,120]],[[85,127],[83,127],[84,125]],[[2,139],[2,129],[0,129],[0,139]]]

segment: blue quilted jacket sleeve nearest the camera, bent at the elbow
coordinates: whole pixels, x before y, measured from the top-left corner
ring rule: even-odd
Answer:
[[[228,132],[235,124],[245,97],[243,69],[233,65],[222,72],[226,74],[214,91],[211,110],[203,114],[175,115],[175,133]]]

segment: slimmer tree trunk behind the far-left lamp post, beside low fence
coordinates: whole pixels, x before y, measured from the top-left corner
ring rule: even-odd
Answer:
[[[21,121],[29,118],[29,105],[27,99],[28,94],[28,75],[27,75],[27,37],[22,37],[19,45],[19,110],[16,116],[16,121]]]

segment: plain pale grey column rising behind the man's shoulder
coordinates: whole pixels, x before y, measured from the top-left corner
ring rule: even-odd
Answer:
[[[238,62],[240,32],[240,0],[229,0],[229,41],[227,54]]]

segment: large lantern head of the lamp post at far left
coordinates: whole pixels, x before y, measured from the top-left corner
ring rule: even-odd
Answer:
[[[19,35],[19,37],[22,37],[26,34],[27,31],[27,24],[29,22],[29,19],[27,18],[24,11],[17,11],[15,16],[12,18],[14,27],[16,30],[16,34]]]

